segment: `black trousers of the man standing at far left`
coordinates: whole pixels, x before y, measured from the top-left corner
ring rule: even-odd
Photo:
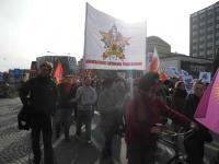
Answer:
[[[41,132],[44,143],[44,164],[54,164],[54,153],[51,144],[51,119],[49,115],[35,114],[31,119],[32,126],[32,150],[34,153],[34,163],[41,162]]]

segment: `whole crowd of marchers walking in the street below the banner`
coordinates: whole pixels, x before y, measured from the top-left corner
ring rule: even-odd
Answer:
[[[34,164],[39,164],[42,160],[41,133],[44,163],[54,164],[53,133],[59,138],[64,128],[65,141],[69,142],[72,121],[76,122],[74,139],[80,140],[84,125],[85,141],[92,145],[94,110],[100,113],[99,126],[105,138],[100,164],[105,161],[113,164],[112,143],[115,136],[119,140],[125,138],[128,164],[154,164],[161,130],[154,125],[166,124],[169,119],[172,120],[170,128],[174,131],[193,129],[193,134],[184,140],[187,163],[203,163],[204,143],[210,142],[212,137],[207,128],[194,119],[194,114],[206,90],[205,83],[194,81],[193,92],[188,94],[180,79],[160,81],[154,72],[148,72],[131,83],[119,77],[103,80],[84,77],[71,83],[66,77],[59,84],[53,81],[51,72],[49,62],[42,63],[38,75],[20,89],[23,106],[30,110]]]

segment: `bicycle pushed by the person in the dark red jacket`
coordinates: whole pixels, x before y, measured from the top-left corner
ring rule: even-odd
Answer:
[[[175,132],[172,130],[169,130],[163,125],[155,125],[157,127],[161,128],[161,131],[158,132],[158,147],[160,144],[168,147],[174,151],[174,155],[169,159],[164,164],[187,164],[186,161],[186,154],[183,152],[183,150],[178,147],[178,138],[183,137],[183,140],[191,136],[193,133],[193,130],[188,130],[185,132]]]

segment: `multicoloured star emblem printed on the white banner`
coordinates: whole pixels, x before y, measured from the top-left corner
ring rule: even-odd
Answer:
[[[102,35],[101,40],[104,43],[103,58],[110,59],[125,59],[125,47],[129,45],[130,37],[123,36],[116,25],[114,24],[108,32],[100,32]]]

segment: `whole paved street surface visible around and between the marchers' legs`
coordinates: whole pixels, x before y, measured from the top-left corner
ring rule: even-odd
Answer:
[[[0,164],[31,164],[33,157],[31,151],[30,131],[18,129],[16,116],[21,108],[19,98],[0,99]],[[96,122],[99,116],[95,115],[92,125],[93,145],[88,145],[83,139],[74,140],[74,125],[70,129],[70,142],[65,142],[64,136],[54,140],[55,156],[58,164],[99,164],[100,150],[103,147],[103,136],[100,132]],[[212,157],[218,151],[217,136],[216,141],[206,144],[206,164],[209,163],[209,156]],[[126,164],[126,148],[122,141],[120,159]],[[119,140],[114,141],[114,156],[118,159]],[[170,151],[169,151],[170,152]],[[163,154],[165,156],[170,154]]]

